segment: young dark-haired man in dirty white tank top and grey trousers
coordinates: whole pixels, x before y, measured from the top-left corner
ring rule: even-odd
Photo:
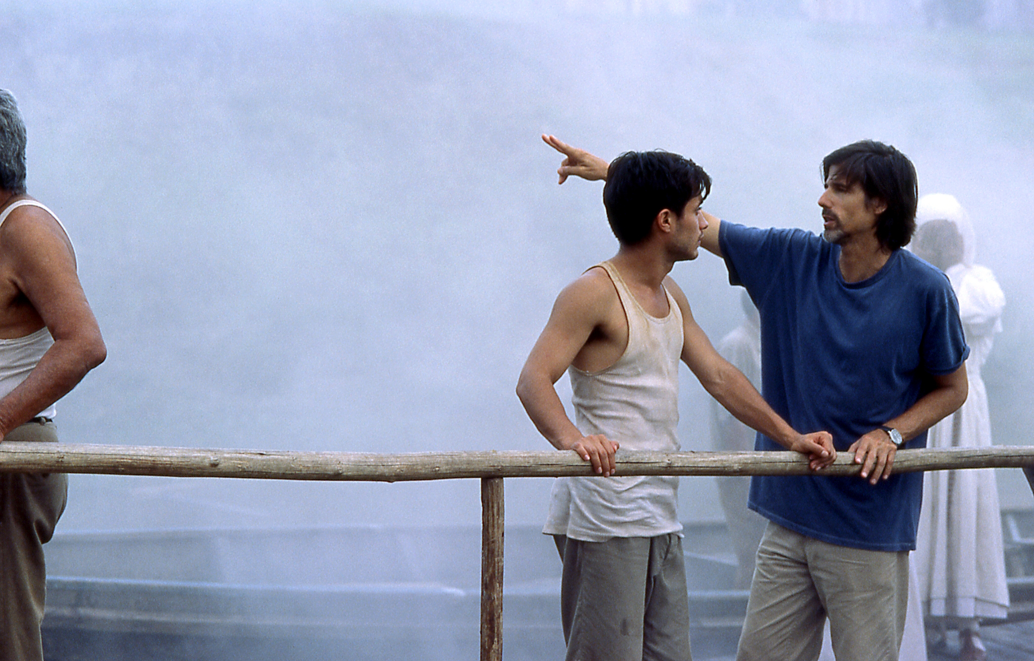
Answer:
[[[569,661],[691,658],[678,480],[615,475],[618,447],[679,448],[679,359],[733,415],[807,454],[813,469],[835,458],[829,434],[791,429],[719,355],[668,277],[697,256],[709,189],[706,172],[676,154],[628,153],[610,164],[604,206],[617,254],[560,292],[517,384],[542,435],[596,473],[554,482],[543,531],[564,562]],[[577,424],[554,388],[565,372]]]

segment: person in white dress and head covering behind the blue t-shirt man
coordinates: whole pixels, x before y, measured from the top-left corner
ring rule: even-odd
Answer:
[[[911,249],[948,276],[970,346],[969,398],[930,430],[926,446],[987,446],[991,420],[980,369],[1002,328],[1005,294],[991,270],[974,262],[976,234],[953,196],[924,195],[916,222]],[[985,659],[979,622],[1003,619],[1009,607],[994,469],[927,472],[916,546],[913,558],[932,643],[944,647],[946,629],[957,628],[960,659]]]

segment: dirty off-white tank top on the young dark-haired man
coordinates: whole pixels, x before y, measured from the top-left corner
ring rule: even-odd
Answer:
[[[669,312],[650,316],[609,261],[599,264],[617,290],[629,324],[621,357],[600,372],[571,367],[575,423],[582,434],[604,434],[621,450],[679,448],[678,360],[682,314],[668,295]],[[560,477],[553,483],[543,532],[585,541],[655,537],[682,529],[674,476]]]

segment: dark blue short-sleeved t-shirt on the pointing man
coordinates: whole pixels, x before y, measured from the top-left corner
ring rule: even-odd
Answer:
[[[723,222],[729,282],[761,313],[765,401],[800,433],[825,430],[838,451],[900,415],[929,375],[969,355],[947,277],[896,250],[873,277],[846,282],[840,246],[802,229]],[[924,447],[921,434],[908,447]],[[759,450],[786,449],[758,434]],[[802,535],[872,550],[915,548],[922,473],[860,477],[755,476],[749,505]]]

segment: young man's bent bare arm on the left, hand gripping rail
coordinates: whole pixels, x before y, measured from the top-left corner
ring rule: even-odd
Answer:
[[[608,285],[609,286],[609,285]],[[584,275],[560,292],[517,382],[520,398],[535,427],[554,447],[574,450],[604,476],[616,466],[618,444],[603,435],[583,436],[568,417],[554,384],[601,324],[608,294],[592,276]]]

